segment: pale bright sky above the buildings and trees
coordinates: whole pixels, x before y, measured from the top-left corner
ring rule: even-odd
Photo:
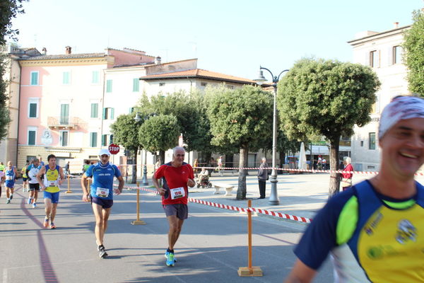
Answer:
[[[365,30],[412,23],[423,0],[30,0],[13,19],[20,47],[47,54],[128,47],[163,62],[198,58],[198,67],[256,79],[302,57],[351,62],[347,42]],[[268,79],[269,74],[265,73]]]

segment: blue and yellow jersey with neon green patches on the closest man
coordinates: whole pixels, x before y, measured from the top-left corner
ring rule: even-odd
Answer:
[[[329,200],[295,254],[317,270],[331,253],[335,282],[424,282],[424,187],[408,200],[363,181]]]

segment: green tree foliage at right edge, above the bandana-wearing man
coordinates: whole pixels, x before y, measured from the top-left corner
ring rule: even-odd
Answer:
[[[424,12],[413,12],[413,25],[404,34],[404,61],[409,90],[424,97]]]

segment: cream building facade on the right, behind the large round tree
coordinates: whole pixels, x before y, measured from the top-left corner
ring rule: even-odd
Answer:
[[[407,69],[402,61],[404,32],[410,25],[382,33],[367,31],[359,33],[348,43],[353,47],[353,63],[370,66],[382,83],[377,91],[371,122],[363,127],[355,126],[352,137],[352,164],[355,171],[379,171],[380,150],[378,146],[379,117],[391,98],[409,95]]]

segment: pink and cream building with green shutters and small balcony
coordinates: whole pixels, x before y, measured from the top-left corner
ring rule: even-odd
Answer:
[[[18,59],[21,67],[18,164],[33,156],[45,160],[97,158],[101,148],[104,93],[112,88],[105,70],[146,64],[154,57],[136,50],[47,55]],[[109,115],[113,113],[109,113]]]

